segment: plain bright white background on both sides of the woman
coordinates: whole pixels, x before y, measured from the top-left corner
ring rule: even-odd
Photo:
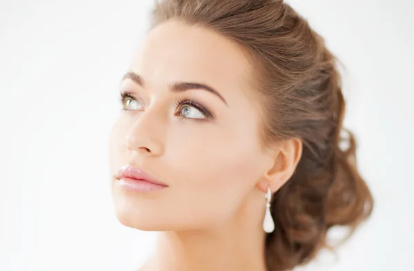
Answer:
[[[346,127],[375,211],[302,270],[413,270],[414,2],[290,1],[347,68]],[[134,270],[108,180],[118,85],[152,1],[0,1],[0,270]]]

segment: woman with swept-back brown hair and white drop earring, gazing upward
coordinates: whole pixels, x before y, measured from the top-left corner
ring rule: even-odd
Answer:
[[[290,270],[368,217],[335,58],[302,17],[271,0],[152,15],[110,143],[119,221],[160,231],[141,271]]]

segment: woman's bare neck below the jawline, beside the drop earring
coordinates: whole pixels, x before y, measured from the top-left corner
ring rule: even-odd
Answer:
[[[216,228],[161,232],[155,254],[141,271],[265,271],[265,202],[246,202]]]

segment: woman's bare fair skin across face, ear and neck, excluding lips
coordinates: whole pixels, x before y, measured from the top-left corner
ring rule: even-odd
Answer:
[[[262,147],[260,107],[250,87],[253,68],[242,48],[205,28],[170,20],[153,28],[121,81],[133,98],[110,135],[112,195],[117,218],[139,230],[160,231],[141,270],[266,270],[262,229],[270,186],[293,174],[302,154],[295,138]],[[204,89],[170,91],[176,82]],[[191,105],[208,109],[206,118]],[[116,185],[132,164],[168,187],[137,193]]]

